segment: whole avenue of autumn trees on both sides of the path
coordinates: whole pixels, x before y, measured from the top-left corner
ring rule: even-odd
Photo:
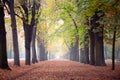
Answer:
[[[31,60],[32,63],[47,60],[50,43],[61,39],[70,60],[95,66],[106,66],[105,45],[110,44],[112,70],[115,69],[120,0],[0,0],[0,68],[10,69],[5,11],[10,15],[14,65],[20,66],[16,23],[20,19],[25,37],[25,65],[30,65]]]

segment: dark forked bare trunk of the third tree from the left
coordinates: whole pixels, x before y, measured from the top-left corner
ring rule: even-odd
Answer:
[[[27,3],[22,4],[22,8],[24,10],[25,16],[23,17],[23,27],[25,32],[25,64],[30,65],[31,62],[31,52],[30,52],[30,44],[32,40],[32,30],[35,26],[35,14],[36,14],[36,8],[35,8],[35,1],[33,1],[32,7],[28,7],[26,5]],[[31,19],[29,22],[29,10],[31,10]]]

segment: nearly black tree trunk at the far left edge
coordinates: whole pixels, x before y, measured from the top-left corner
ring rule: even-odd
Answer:
[[[1,0],[0,0],[0,4]],[[0,68],[9,69],[7,61],[6,31],[4,22],[4,8],[0,5]]]

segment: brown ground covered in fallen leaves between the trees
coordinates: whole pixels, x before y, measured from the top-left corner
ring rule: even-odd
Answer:
[[[111,70],[111,64],[98,67],[68,60],[52,60],[21,67],[13,66],[12,71],[0,69],[0,80],[120,80],[120,63],[116,70]]]

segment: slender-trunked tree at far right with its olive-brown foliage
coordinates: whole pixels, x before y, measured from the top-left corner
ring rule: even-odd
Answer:
[[[110,42],[112,44],[112,70],[115,69],[115,42],[119,38],[119,30],[118,27],[120,24],[120,16],[119,16],[119,0],[115,1],[108,1],[108,3],[103,6],[103,11],[106,14],[106,17],[104,18],[105,21],[102,21],[101,23],[104,24],[105,27],[105,41]],[[111,37],[112,36],[112,37]]]

